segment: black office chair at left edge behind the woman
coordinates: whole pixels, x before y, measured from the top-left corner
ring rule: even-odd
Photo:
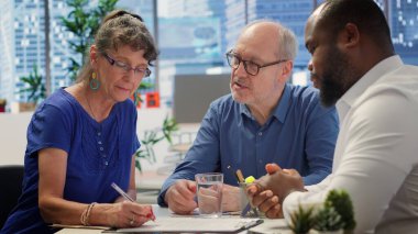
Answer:
[[[23,165],[0,165],[0,230],[22,193]]]

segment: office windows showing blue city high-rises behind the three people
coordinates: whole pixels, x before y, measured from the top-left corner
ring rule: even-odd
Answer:
[[[24,101],[20,77],[37,66],[45,77],[45,2],[50,8],[50,67],[53,92],[72,80],[67,74],[74,35],[59,18],[70,9],[66,0],[2,0],[0,3],[0,99],[10,104]],[[89,1],[97,7],[98,0]],[[290,27],[299,41],[299,53],[290,81],[309,85],[310,58],[304,47],[304,26],[321,0],[119,0],[117,5],[139,13],[157,36],[161,57],[148,81],[160,91],[162,104],[172,107],[174,78],[184,75],[228,74],[224,53],[233,47],[240,30],[257,19],[274,19]],[[418,65],[418,0],[376,0],[392,30],[396,52],[407,64]],[[156,14],[155,14],[156,12]],[[157,76],[155,76],[157,74]],[[209,78],[208,78],[209,79]],[[45,82],[45,81],[43,81]],[[184,94],[187,94],[185,92]]]

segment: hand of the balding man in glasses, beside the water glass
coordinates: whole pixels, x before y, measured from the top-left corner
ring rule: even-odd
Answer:
[[[179,179],[168,188],[164,200],[173,212],[178,214],[189,214],[197,208],[195,194],[196,182]]]

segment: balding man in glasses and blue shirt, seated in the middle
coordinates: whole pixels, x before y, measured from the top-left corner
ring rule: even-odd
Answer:
[[[331,172],[337,112],[320,104],[315,88],[286,82],[296,49],[295,35],[278,23],[261,21],[243,30],[227,53],[231,94],[211,103],[193,147],[165,181],[160,205],[191,212],[198,172],[223,172],[230,185],[223,188],[224,211],[239,209],[237,169],[258,178],[266,164],[276,163],[298,170],[305,185]]]

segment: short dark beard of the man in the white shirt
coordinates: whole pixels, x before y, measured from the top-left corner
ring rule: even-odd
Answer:
[[[350,89],[354,77],[348,57],[337,46],[330,48],[326,63],[328,69],[320,79],[320,98],[324,107],[331,107]]]

